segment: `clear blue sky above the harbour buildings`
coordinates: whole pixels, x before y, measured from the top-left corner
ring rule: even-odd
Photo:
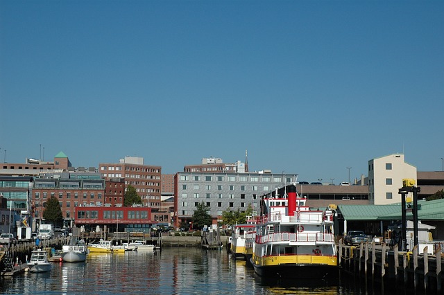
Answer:
[[[0,162],[299,180],[444,157],[444,1],[0,1]]]

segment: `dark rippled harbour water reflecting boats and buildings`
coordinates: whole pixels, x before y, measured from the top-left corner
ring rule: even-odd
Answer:
[[[0,278],[2,294],[368,294],[348,281],[266,281],[225,250],[94,253],[49,273]]]

